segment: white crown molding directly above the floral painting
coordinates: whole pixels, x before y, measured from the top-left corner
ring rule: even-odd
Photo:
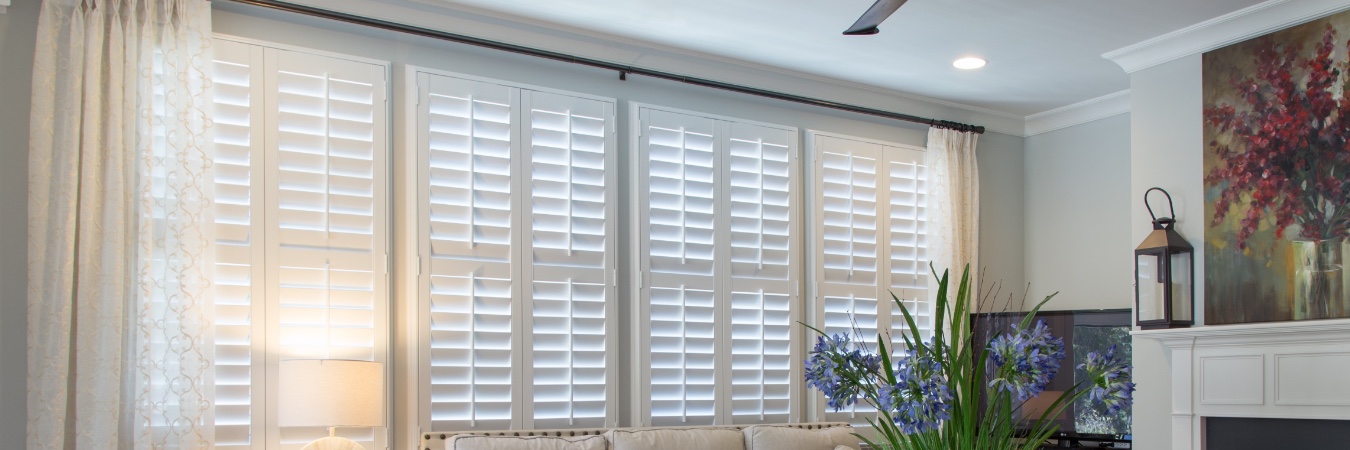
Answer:
[[[1350,0],[1268,0],[1119,50],[1103,53],[1126,73],[1350,9]]]

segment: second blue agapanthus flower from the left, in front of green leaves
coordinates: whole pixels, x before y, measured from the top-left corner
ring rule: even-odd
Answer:
[[[905,434],[937,430],[952,419],[952,391],[942,378],[941,366],[933,357],[909,350],[895,370],[895,384],[878,392],[878,407],[891,412],[891,418]]]

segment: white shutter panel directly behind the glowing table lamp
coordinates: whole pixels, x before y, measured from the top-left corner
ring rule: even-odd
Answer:
[[[385,68],[275,49],[266,64],[269,346],[278,361],[385,362]],[[371,428],[344,431],[383,446]],[[279,442],[324,435],[281,428]]]

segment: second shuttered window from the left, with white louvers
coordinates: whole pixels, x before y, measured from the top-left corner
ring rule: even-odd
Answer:
[[[614,101],[416,82],[421,427],[616,426]]]

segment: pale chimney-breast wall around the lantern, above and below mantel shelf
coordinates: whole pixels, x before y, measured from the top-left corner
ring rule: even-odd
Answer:
[[[1204,236],[1200,54],[1166,62],[1130,76],[1130,243],[1152,231],[1143,192],[1166,189],[1176,204],[1177,230],[1192,242]],[[1203,251],[1197,246],[1196,251]],[[1204,273],[1196,254],[1195,272]],[[1122,286],[1127,295],[1130,286]],[[1204,286],[1196,286],[1204,299]],[[1204,323],[1196,308],[1196,323]],[[1138,449],[1172,447],[1170,355],[1157,342],[1134,339],[1134,435]]]

